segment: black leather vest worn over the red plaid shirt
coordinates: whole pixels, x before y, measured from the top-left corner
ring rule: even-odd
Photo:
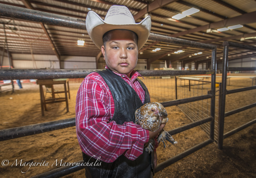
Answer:
[[[108,85],[115,103],[115,110],[111,121],[117,124],[124,122],[135,122],[135,111],[145,103],[150,102],[148,90],[141,80],[137,78],[145,91],[145,101],[141,102],[134,89],[126,83],[120,76],[114,74],[109,69],[96,70]],[[101,166],[86,166],[86,178],[150,178],[151,170],[154,167],[154,153],[149,154],[145,150],[136,160],[127,159],[124,155],[118,157],[112,163],[101,161]],[[83,153],[84,163],[96,162],[96,159]],[[99,162],[99,161],[98,161]]]

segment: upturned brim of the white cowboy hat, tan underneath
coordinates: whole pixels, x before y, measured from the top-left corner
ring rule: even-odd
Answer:
[[[102,37],[105,32],[114,29],[131,30],[138,35],[138,50],[140,50],[148,40],[151,29],[151,17],[146,17],[140,23],[113,25],[106,23],[95,12],[89,11],[86,17],[86,29],[92,41],[99,49],[103,45]]]

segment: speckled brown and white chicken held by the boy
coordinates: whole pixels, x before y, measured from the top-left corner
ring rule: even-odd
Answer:
[[[160,117],[163,117],[162,121],[160,120]],[[157,102],[146,103],[135,111],[135,124],[139,124],[142,128],[152,132],[157,131],[160,124],[164,124],[168,120],[169,118],[167,118],[166,109],[163,105]],[[158,143],[164,143],[164,149],[166,147],[165,143],[167,143],[166,140],[172,144],[178,143],[163,129],[158,134],[157,141]],[[145,143],[144,148],[148,153],[152,152],[154,149],[153,142],[149,140],[148,143]]]

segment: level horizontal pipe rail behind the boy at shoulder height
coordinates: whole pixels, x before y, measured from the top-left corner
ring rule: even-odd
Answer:
[[[85,78],[93,69],[1,69],[0,80]],[[213,70],[136,70],[142,76],[214,74]]]

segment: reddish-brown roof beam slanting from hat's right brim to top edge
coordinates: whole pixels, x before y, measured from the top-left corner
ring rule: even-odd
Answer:
[[[158,8],[161,8],[167,4],[170,4],[175,1],[177,1],[177,0],[155,0],[155,1],[151,2],[150,4],[148,4],[145,8],[141,9],[133,17],[135,20],[138,20],[141,17],[144,17],[144,15],[147,14],[148,12],[154,11]]]

